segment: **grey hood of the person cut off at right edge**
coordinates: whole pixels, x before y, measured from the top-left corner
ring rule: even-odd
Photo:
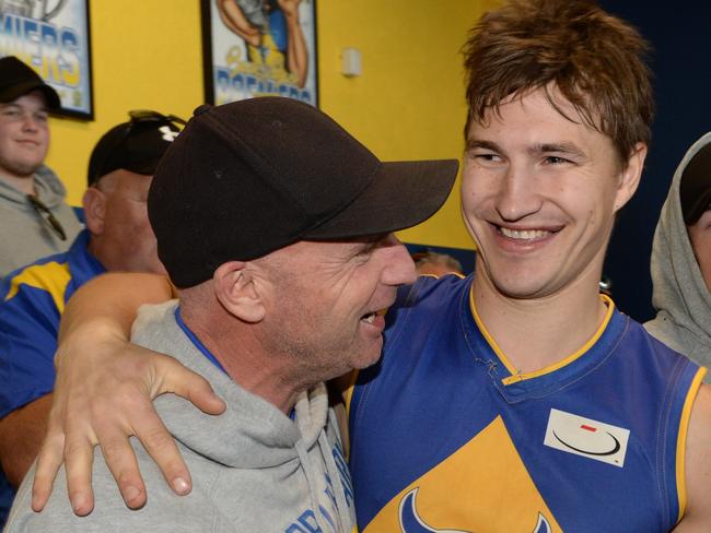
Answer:
[[[711,132],[689,149],[674,174],[652,245],[652,305],[657,315],[644,324],[667,346],[707,367],[711,366],[711,293],[684,223],[679,183],[689,161],[709,143]]]

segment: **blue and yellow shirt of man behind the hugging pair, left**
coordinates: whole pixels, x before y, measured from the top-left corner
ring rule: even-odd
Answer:
[[[86,246],[89,232],[71,248],[10,273],[0,287],[0,418],[51,392],[53,363],[65,304],[104,272]]]

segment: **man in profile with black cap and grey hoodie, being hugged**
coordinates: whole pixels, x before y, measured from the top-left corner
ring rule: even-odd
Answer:
[[[97,453],[98,512],[78,518],[56,491],[34,513],[25,483],[5,531],[351,532],[352,486],[324,381],[380,357],[384,310],[415,281],[393,232],[440,208],[457,166],[383,163],[294,99],[198,108],[148,199],[178,299],[144,308],[132,333],[225,400],[218,417],[176,395],[158,403],[194,490],[173,494],[137,442],[155,474],[143,508],[126,508]]]

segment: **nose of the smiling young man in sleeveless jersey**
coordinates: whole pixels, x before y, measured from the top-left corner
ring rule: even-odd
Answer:
[[[496,209],[503,221],[515,222],[538,212],[541,197],[535,170],[511,162],[501,176]]]

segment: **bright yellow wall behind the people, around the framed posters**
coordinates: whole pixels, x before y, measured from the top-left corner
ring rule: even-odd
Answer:
[[[318,0],[320,107],[383,159],[458,158],[466,115],[459,47],[494,0]],[[95,121],[53,119],[48,164],[81,202],[89,154],[128,109],[189,118],[203,98],[198,0],[91,0]],[[340,74],[360,49],[363,74]],[[471,248],[458,187],[409,242]]]

